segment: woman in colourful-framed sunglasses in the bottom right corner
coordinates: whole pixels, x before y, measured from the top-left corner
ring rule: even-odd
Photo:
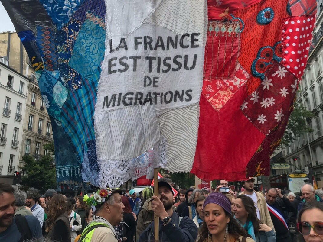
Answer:
[[[307,203],[298,213],[299,241],[323,242],[323,203]]]

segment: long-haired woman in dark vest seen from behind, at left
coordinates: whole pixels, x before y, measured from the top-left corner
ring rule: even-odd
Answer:
[[[71,242],[69,220],[66,214],[65,199],[62,194],[55,194],[50,199],[47,213],[46,232],[48,237],[57,242]]]

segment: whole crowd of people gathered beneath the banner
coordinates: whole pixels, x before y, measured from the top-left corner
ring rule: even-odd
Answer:
[[[220,180],[212,193],[189,188],[175,197],[171,180],[161,178],[159,196],[146,187],[138,195],[106,188],[74,198],[2,183],[0,241],[323,242],[321,189],[305,184],[297,195],[278,188],[262,193],[254,182],[243,181],[239,194]]]

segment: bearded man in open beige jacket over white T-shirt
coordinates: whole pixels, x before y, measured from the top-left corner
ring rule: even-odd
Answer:
[[[249,180],[242,181],[242,185],[245,190],[240,194],[245,194],[254,201],[258,219],[275,231],[264,195],[254,190],[255,177],[249,177]]]

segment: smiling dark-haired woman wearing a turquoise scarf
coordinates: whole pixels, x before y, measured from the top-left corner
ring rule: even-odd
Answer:
[[[234,217],[240,222],[241,226],[247,230],[256,242],[276,242],[276,234],[271,227],[261,224],[257,218],[254,201],[246,196],[239,195],[232,207]]]

